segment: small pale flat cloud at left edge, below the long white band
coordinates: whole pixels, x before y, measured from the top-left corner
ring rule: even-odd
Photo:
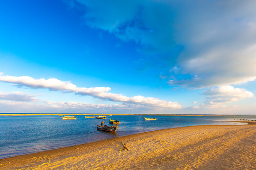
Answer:
[[[0,92],[1,100],[10,100],[10,101],[20,101],[20,102],[35,102],[38,101],[33,94],[21,93],[21,92],[12,92],[4,93]]]

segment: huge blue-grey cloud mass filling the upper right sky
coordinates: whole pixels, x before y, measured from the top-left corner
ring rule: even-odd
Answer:
[[[88,26],[137,42],[148,61],[156,56],[152,62],[165,65],[161,76],[170,85],[203,88],[256,79],[255,0],[76,1],[86,7]],[[180,69],[168,71],[173,68]]]

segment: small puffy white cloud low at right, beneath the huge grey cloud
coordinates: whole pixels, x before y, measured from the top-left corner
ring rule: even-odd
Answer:
[[[218,105],[221,103],[235,102],[245,98],[253,97],[254,94],[242,88],[234,88],[233,86],[219,86],[207,89],[203,92],[208,100],[206,103],[210,105]]]

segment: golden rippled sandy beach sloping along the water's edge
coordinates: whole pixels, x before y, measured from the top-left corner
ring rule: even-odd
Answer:
[[[1,159],[0,169],[256,170],[256,122],[246,122],[164,129],[16,156]],[[122,143],[128,151],[120,151]]]

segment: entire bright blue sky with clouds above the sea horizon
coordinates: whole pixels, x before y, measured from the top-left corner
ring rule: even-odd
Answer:
[[[1,113],[256,114],[255,0],[1,0]]]

